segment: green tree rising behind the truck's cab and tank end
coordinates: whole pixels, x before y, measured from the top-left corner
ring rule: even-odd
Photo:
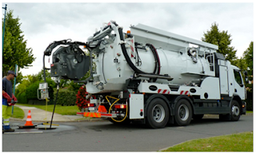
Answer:
[[[234,60],[237,58],[235,56],[237,50],[235,50],[233,46],[230,46],[232,41],[230,38],[231,35],[225,30],[218,30],[218,24],[214,22],[210,30],[207,30],[207,32],[203,34],[202,41],[218,45],[217,52],[222,53],[224,57],[226,57],[226,60],[229,60],[233,64]]]

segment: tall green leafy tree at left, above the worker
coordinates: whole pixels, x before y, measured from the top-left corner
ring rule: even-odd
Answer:
[[[15,70],[15,64],[23,69],[35,60],[31,48],[26,48],[26,40],[21,30],[19,18],[14,18],[13,10],[6,13],[5,39],[2,52],[2,77],[8,70]],[[3,26],[3,19],[2,19]]]

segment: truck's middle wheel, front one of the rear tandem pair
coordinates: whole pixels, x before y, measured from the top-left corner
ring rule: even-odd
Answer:
[[[174,120],[179,126],[186,126],[190,124],[192,119],[192,108],[190,102],[186,99],[180,99],[175,105]]]

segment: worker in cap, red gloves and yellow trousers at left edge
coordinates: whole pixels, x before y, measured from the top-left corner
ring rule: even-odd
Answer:
[[[14,71],[9,70],[7,76],[2,79],[2,125],[3,132],[14,132],[14,129],[10,128],[10,116],[12,105],[17,102],[17,98],[12,93],[12,83],[11,80],[14,80],[16,77]]]

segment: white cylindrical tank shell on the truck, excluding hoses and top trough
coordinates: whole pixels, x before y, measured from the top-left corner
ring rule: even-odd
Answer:
[[[128,42],[128,41],[127,41]],[[134,44],[133,44],[134,45]],[[172,81],[158,79],[157,83],[170,85],[184,85],[193,81],[198,81],[202,76],[212,76],[213,70],[210,70],[210,62],[205,55],[202,57],[196,54],[196,62],[188,55],[189,48],[180,49],[179,51],[171,51],[162,48],[156,48],[160,60],[160,74],[168,74],[173,78]],[[156,63],[154,54],[150,48],[137,49],[132,51],[130,45],[126,44],[126,52],[130,56],[130,60],[134,65],[145,73],[153,73]],[[198,50],[199,51],[199,50]],[[139,63],[136,64],[136,62]],[[96,70],[94,74],[94,82],[86,85],[88,93],[109,93],[121,91],[124,89],[126,79],[134,76],[134,70],[127,64],[126,58],[122,53],[120,45],[114,43],[105,45],[104,52],[98,53],[98,57],[94,59]],[[146,78],[145,78],[146,79]]]

